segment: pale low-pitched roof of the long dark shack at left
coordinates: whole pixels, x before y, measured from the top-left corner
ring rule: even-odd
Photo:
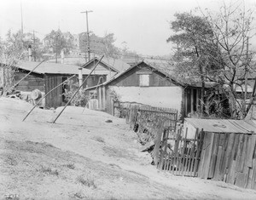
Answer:
[[[30,61],[21,61],[16,66],[20,69],[26,71],[32,71],[36,66],[38,66],[40,62],[30,62]],[[40,66],[38,66],[33,72],[39,74],[78,74],[79,73],[79,66],[73,65],[64,65],[59,63],[49,63],[43,62]],[[87,75],[90,73],[90,70],[83,69],[83,74]],[[97,75],[107,75],[108,73],[105,71],[94,71],[93,74]]]

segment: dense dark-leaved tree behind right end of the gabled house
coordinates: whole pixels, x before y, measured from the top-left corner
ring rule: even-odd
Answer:
[[[218,46],[214,43],[212,26],[207,19],[194,14],[175,14],[171,22],[174,34],[167,39],[177,45],[173,56],[177,68],[177,77],[189,80],[189,83],[201,82],[201,112],[205,103],[205,82],[215,80],[221,66],[215,60],[219,58]]]

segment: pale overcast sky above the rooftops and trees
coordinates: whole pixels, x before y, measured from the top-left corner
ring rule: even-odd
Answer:
[[[171,53],[168,21],[173,14],[202,9],[217,9],[221,0],[0,0],[0,37],[20,29],[22,3],[24,32],[35,30],[43,38],[51,30],[79,33],[86,31],[85,14],[89,14],[90,31],[98,36],[114,33],[116,45],[126,43],[139,54]],[[245,2],[256,3],[256,0]]]

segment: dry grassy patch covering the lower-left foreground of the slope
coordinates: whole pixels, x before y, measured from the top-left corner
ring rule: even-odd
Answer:
[[[127,156],[110,146],[104,151]],[[156,184],[150,186],[148,179],[119,165],[93,161],[49,143],[0,140],[0,160],[6,182],[1,185],[0,181],[0,199],[6,193],[18,194],[20,199],[130,199],[162,197],[166,191],[165,186],[156,190]]]

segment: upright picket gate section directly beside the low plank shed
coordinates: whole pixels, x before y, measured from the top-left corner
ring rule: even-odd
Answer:
[[[182,129],[177,132],[164,129],[158,135],[154,148],[159,156],[156,158],[158,169],[175,175],[197,176],[203,132],[197,129],[193,139],[187,138],[187,133],[188,129],[184,133]]]

